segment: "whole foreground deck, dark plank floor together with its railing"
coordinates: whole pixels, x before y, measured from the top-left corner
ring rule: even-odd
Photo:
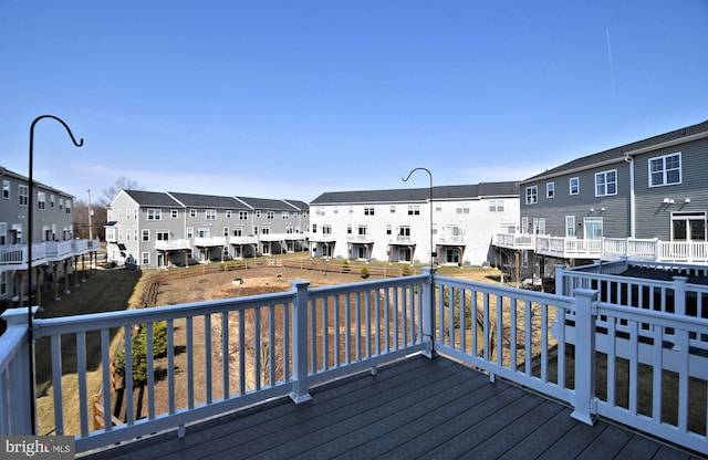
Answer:
[[[277,294],[35,320],[35,353],[53,363],[53,426],[43,428],[74,436],[77,452],[97,449],[87,456],[94,459],[687,458],[629,429],[708,454],[700,377],[708,358],[695,349],[696,337],[708,337],[708,320],[612,304],[587,289],[551,295],[438,276],[433,269],[326,288],[291,285]],[[9,310],[3,318],[0,435],[25,435],[27,310]],[[162,322],[167,347],[158,359],[149,337]],[[613,335],[611,324],[626,330]],[[112,410],[94,417],[92,407],[114,408],[116,400],[111,337],[131,337],[140,327],[148,337],[145,417],[135,417],[133,398],[124,399],[119,417]],[[607,360],[596,388],[601,335],[603,353],[621,354],[628,370]],[[87,385],[88,336],[100,337],[103,389]],[[674,342],[666,344],[669,336]],[[124,342],[129,376],[133,341]],[[76,356],[70,379],[77,389],[64,387],[67,354]],[[676,388],[662,379],[669,365]],[[646,368],[654,378],[648,400],[637,378]],[[624,383],[617,379],[626,373]],[[690,398],[689,379],[702,388]],[[127,378],[125,395],[136,389]],[[674,406],[675,419],[665,417]]]

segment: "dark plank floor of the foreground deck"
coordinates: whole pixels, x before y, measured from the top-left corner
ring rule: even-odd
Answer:
[[[690,459],[444,357],[418,356],[84,459]],[[697,457],[693,457],[697,458]]]

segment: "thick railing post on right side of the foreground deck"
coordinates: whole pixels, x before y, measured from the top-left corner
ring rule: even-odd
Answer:
[[[595,421],[595,314],[597,291],[579,289],[575,299],[575,400],[571,417],[583,424]],[[559,356],[559,359],[561,357]]]

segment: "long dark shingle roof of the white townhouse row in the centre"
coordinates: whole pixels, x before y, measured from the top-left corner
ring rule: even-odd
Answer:
[[[433,187],[434,199],[476,199],[481,197],[519,196],[519,182],[483,182],[479,185]],[[344,205],[357,202],[425,202],[429,188],[392,190],[329,191],[312,200],[312,205]]]

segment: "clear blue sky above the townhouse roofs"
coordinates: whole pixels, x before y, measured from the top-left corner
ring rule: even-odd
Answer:
[[[86,198],[521,180],[708,119],[708,1],[0,0],[0,165]]]

